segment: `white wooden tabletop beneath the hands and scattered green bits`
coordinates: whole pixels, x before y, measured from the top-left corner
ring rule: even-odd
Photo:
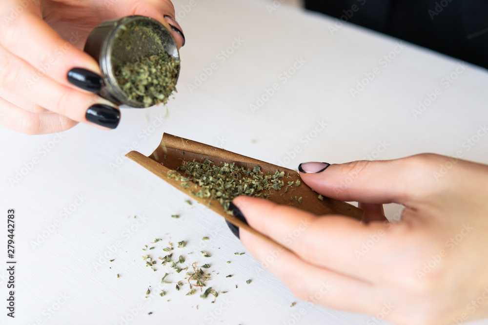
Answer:
[[[163,107],[124,109],[115,131],[79,125],[61,137],[0,128],[0,229],[6,229],[6,210],[16,209],[18,261],[17,317],[7,319],[2,307],[0,323],[386,324],[303,302],[290,308],[296,299],[280,281],[249,254],[234,255],[245,249],[220,216],[186,205],[182,193],[120,157],[132,148],[151,153],[168,132],[291,168],[309,160],[341,163],[458,151],[488,163],[488,136],[476,137],[488,122],[487,71],[465,64],[444,88],[442,79],[462,62],[410,44],[400,51],[398,40],[348,24],[331,33],[335,20],[325,16],[285,5],[269,12],[269,2],[261,0],[195,0],[188,12],[181,11],[188,1],[174,2],[187,45],[169,117],[163,119]],[[237,46],[235,39],[242,43]],[[226,50],[233,43],[236,48]],[[393,57],[395,49],[400,53],[384,66],[379,60]],[[300,69],[284,78],[297,59],[304,62]],[[218,69],[190,91],[188,84],[211,66]],[[380,74],[353,98],[350,88],[375,67]],[[250,104],[273,83],[279,90],[251,112]],[[412,109],[437,87],[442,95],[415,118]],[[316,133],[317,121],[327,125]],[[305,141],[305,134],[313,141]],[[477,142],[468,146],[472,137]],[[33,158],[38,163],[23,169]],[[25,175],[11,185],[17,172]],[[388,209],[390,217],[398,211]],[[170,217],[175,213],[181,218]],[[0,234],[4,243],[6,231]],[[210,240],[202,242],[203,236]],[[186,240],[184,252],[193,252],[188,261],[213,264],[219,274],[210,284],[229,292],[215,304],[185,296],[188,287],[177,292],[170,286],[160,297],[163,268],[153,272],[141,259],[143,246],[155,238]],[[5,244],[0,247],[6,250]],[[200,250],[212,257],[203,258]],[[3,306],[6,251],[0,256]],[[247,285],[247,279],[253,282]],[[153,294],[145,298],[149,286]]]

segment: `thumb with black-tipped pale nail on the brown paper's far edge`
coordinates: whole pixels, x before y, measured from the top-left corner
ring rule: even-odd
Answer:
[[[385,161],[354,161],[329,165],[308,162],[299,166],[303,181],[314,191],[342,201],[410,205],[435,191],[439,161],[447,157],[419,154]]]

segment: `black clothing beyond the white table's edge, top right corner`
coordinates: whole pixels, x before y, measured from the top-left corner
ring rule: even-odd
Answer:
[[[488,68],[488,0],[305,0],[305,7]]]

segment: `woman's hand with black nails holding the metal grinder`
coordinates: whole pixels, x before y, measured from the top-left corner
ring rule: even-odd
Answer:
[[[129,15],[161,21],[183,46],[169,0],[2,0],[0,123],[26,134],[116,128],[120,111],[96,95],[101,71],[82,49],[100,22]]]

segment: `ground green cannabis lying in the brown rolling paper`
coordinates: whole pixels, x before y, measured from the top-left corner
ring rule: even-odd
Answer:
[[[285,186],[280,179],[285,176],[285,172],[277,170],[274,174],[265,174],[259,166],[245,170],[234,163],[217,165],[206,159],[203,163],[183,161],[179,171],[182,175],[170,171],[168,177],[181,181],[183,188],[189,188],[192,184],[201,186],[202,190],[192,191],[192,194],[219,201],[227,213],[230,213],[229,203],[237,196],[268,198],[273,194],[271,190],[279,191]]]

